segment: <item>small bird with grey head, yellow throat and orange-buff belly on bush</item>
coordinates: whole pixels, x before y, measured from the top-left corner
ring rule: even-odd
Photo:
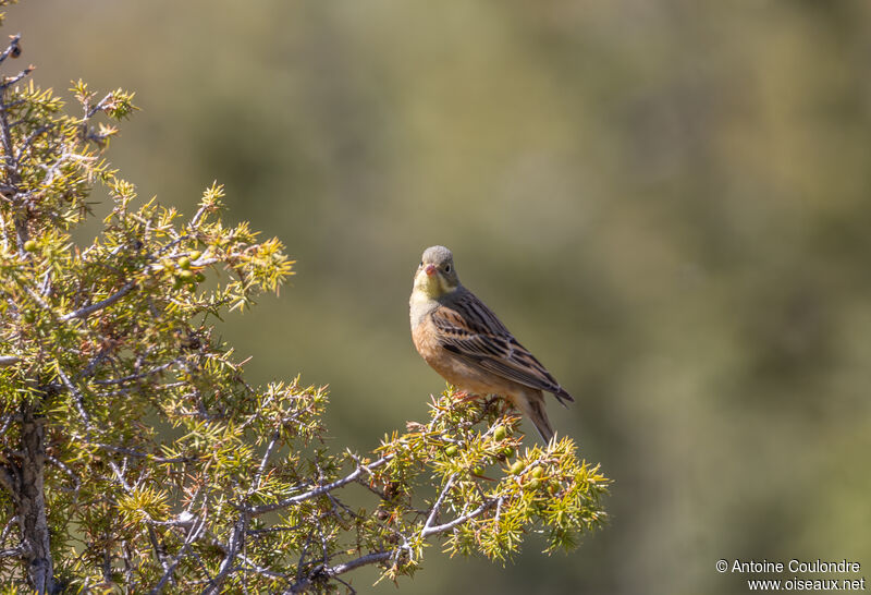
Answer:
[[[424,251],[408,300],[412,340],[449,384],[469,394],[498,394],[526,415],[545,442],[554,436],[544,392],[564,406],[574,398],[493,312],[459,282],[453,253]]]

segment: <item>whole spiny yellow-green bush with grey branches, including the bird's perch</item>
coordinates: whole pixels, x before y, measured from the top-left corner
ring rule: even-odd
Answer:
[[[17,38],[0,63],[15,48]],[[608,479],[598,466],[579,462],[565,438],[520,453],[518,418],[501,401],[449,392],[429,423],[369,456],[329,449],[322,389],[298,378],[252,387],[216,339],[223,314],[293,274],[281,242],[226,227],[219,185],[189,219],[139,202],[101,157],[116,130],[97,122],[132,113],[132,94],[98,100],[78,82],[81,112],[68,116],[51,90],[20,84],[29,71],[0,86],[9,592],[42,588],[23,545],[33,536],[22,495],[34,486],[20,481],[33,462],[20,445],[37,426],[45,506],[32,501],[26,513],[48,523],[45,591],[329,592],[364,564],[412,574],[428,539],[505,560],[530,531],[550,551],[602,522]],[[112,209],[79,248],[70,232],[89,215],[95,184]]]

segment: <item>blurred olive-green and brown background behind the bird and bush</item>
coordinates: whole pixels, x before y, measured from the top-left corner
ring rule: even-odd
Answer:
[[[444,387],[407,321],[434,243],[576,396],[551,417],[611,524],[504,568],[430,548],[403,593],[871,569],[871,3],[39,0],[5,28],[42,86],[137,92],[109,157],[143,197],[189,215],[217,178],[287,244],[292,287],[222,332],[253,381],[330,385],[334,446]]]

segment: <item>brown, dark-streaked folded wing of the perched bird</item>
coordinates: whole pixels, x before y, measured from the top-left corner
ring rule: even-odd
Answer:
[[[503,378],[552,392],[561,403],[575,400],[483,302],[465,288],[455,293],[431,315],[444,349]]]

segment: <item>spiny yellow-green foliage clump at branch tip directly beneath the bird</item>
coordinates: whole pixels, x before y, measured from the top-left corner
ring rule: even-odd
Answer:
[[[400,536],[402,544],[385,575],[410,572],[430,535],[444,534],[452,555],[505,560],[530,531],[544,534],[548,551],[571,549],[582,531],[603,522],[600,498],[609,481],[598,465],[579,462],[569,438],[519,453],[519,420],[501,399],[449,391],[433,402],[429,424],[412,423],[408,433],[382,442],[378,452],[387,462],[371,478],[391,496],[379,507],[389,520],[384,537]],[[439,487],[434,502],[422,507],[426,519],[407,491],[417,484]]]

